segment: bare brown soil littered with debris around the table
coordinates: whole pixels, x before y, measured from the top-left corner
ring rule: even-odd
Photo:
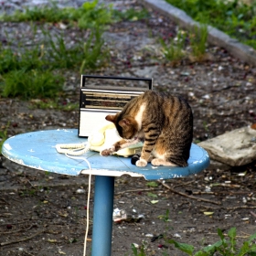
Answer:
[[[140,7],[136,2],[133,5]],[[22,39],[18,31],[26,31],[23,38],[29,41],[29,24],[2,23],[1,27],[0,38],[5,37],[3,29],[16,40]],[[51,30],[60,29],[56,25]],[[182,95],[194,112],[195,143],[256,123],[256,69],[215,46],[208,46],[204,61],[187,58],[172,65],[163,58],[158,38],[175,37],[177,29],[154,11],[146,20],[113,24],[104,34],[111,53],[109,65],[88,73],[153,78],[155,91]],[[78,28],[65,27],[64,32],[67,44],[75,37],[86,37]],[[66,76],[59,106],[80,99],[79,72],[69,70]],[[78,128],[79,109],[40,109],[38,101],[48,100],[0,98],[1,129],[12,136]],[[113,208],[124,209],[129,218],[113,222],[112,255],[134,255],[132,243],[144,244],[145,255],[187,255],[167,240],[191,244],[197,251],[219,240],[218,228],[226,234],[232,227],[237,228],[240,246],[255,233],[255,170],[256,163],[208,168],[197,176],[165,180],[164,184],[155,181],[157,187],[144,178],[115,178]],[[87,176],[42,172],[16,165],[2,155],[0,255],[82,255],[87,192]],[[93,181],[90,208],[91,220]],[[87,247],[90,254],[90,240]]]

